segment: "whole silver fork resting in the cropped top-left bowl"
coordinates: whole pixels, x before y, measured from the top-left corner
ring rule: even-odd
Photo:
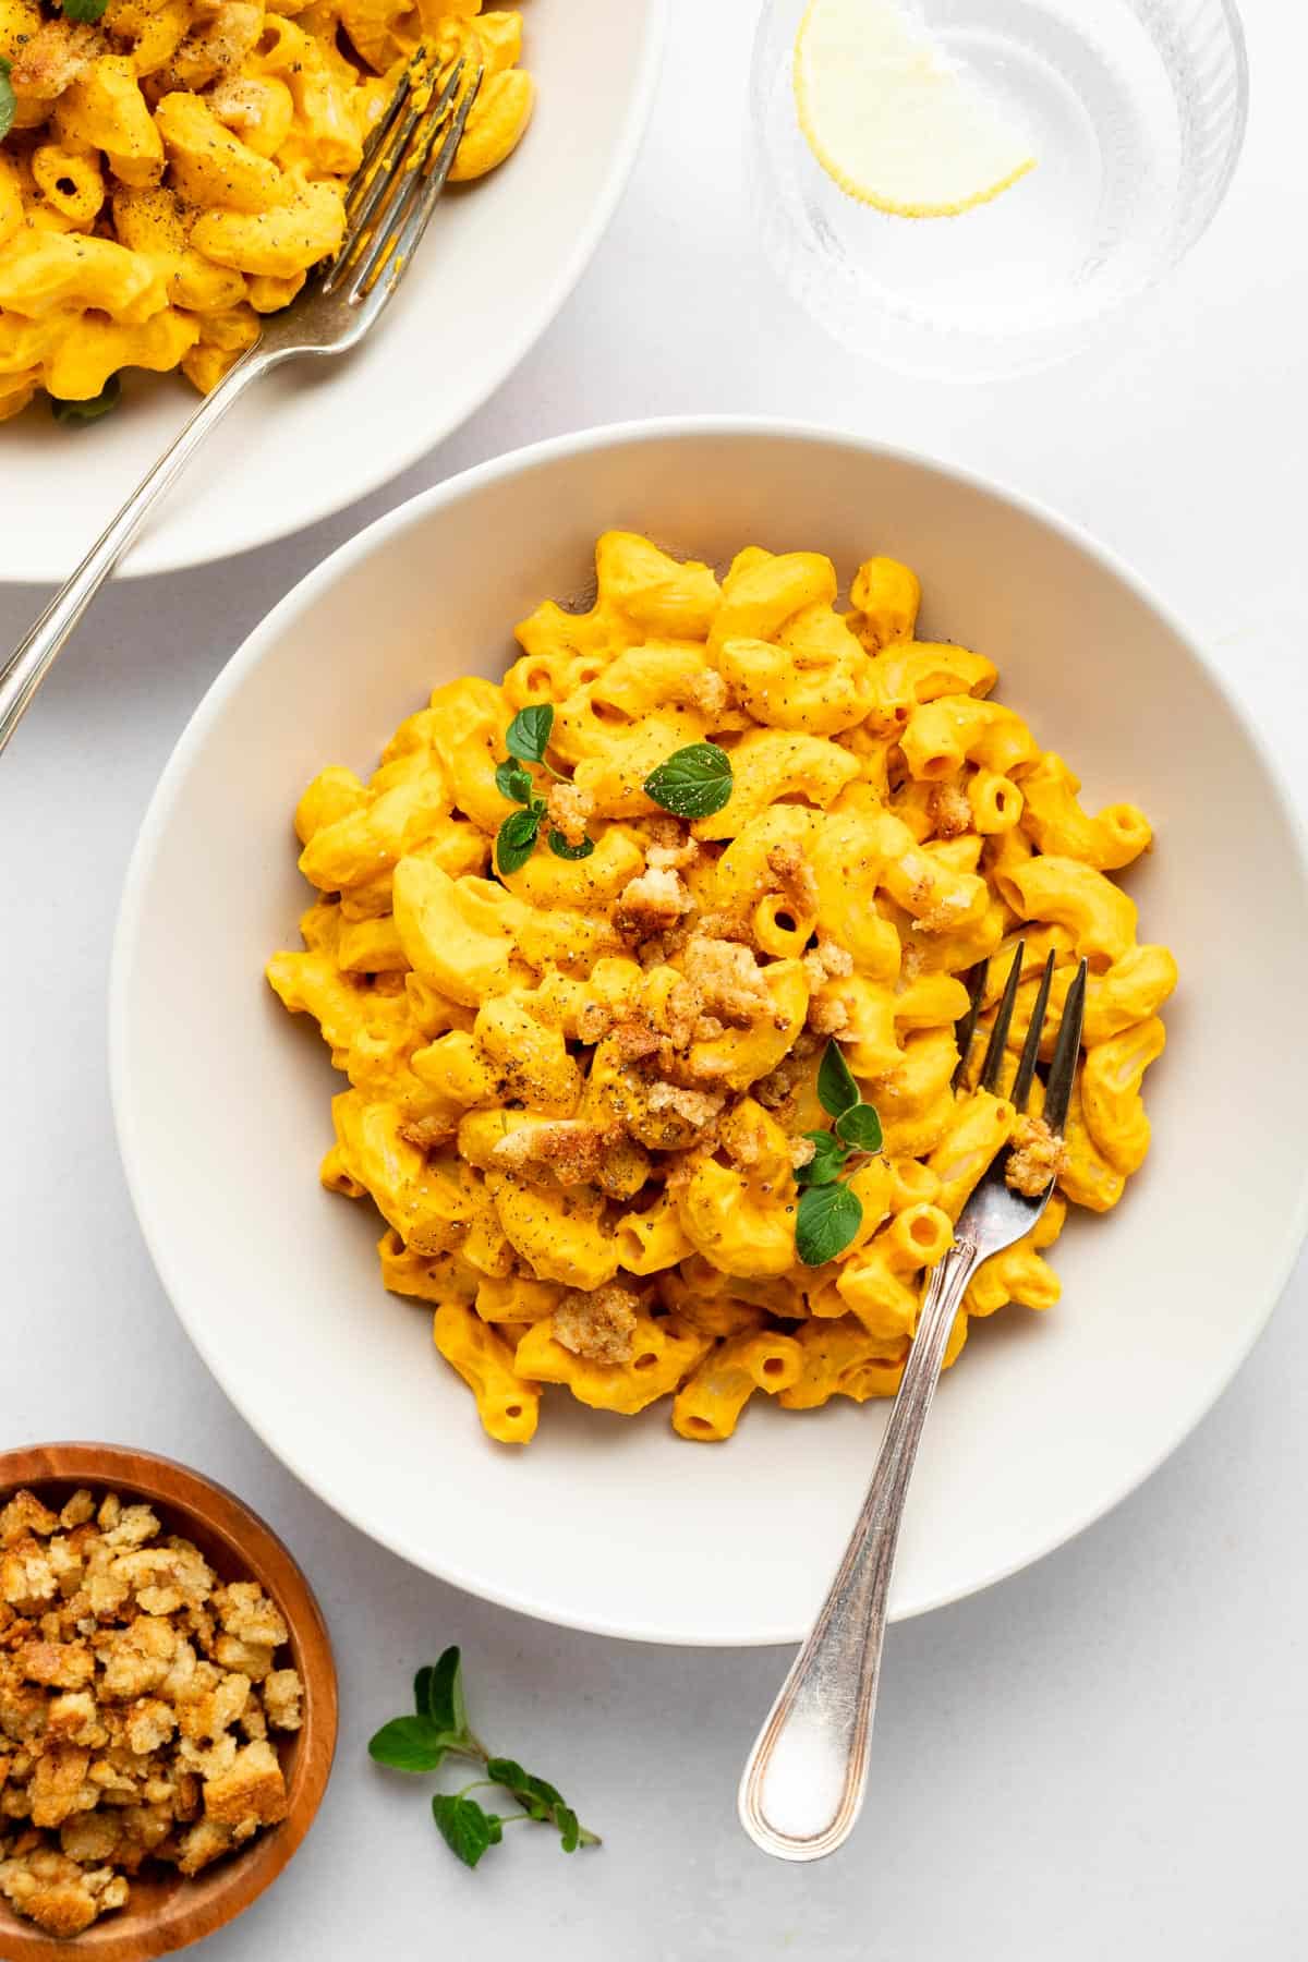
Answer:
[[[467,86],[463,86],[467,77]],[[239,394],[296,355],[339,355],[355,347],[414,263],[428,220],[445,188],[467,128],[482,69],[457,61],[443,82],[418,49],[377,122],[345,194],[345,237],[335,259],[312,275],[280,314],[269,314],[253,347],[204,396],[176,441],[165,449],[73,577],[59,589],[27,638],[0,665],[0,751],[24,718],[69,634],[110,577],[147,512],[190,463],[204,438]]]

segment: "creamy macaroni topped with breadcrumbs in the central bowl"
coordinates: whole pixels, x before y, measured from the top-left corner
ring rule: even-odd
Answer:
[[[547,600],[520,624],[502,685],[439,687],[367,783],[314,779],[296,830],[318,899],[269,979],[349,1079],[322,1181],[371,1195],[382,1279],[435,1305],[490,1436],[529,1440],[555,1383],[628,1417],[671,1399],[679,1436],[716,1442],[759,1395],[896,1391],[930,1271],[1014,1130],[975,1069],[1018,940],[1000,1091],[1045,957],[1051,1030],[1090,967],[1067,1163],[1033,1232],[973,1279],[945,1360],[973,1317],[1057,1303],[1067,1203],[1108,1211],[1149,1150],[1141,1079],[1177,965],[1110,879],[1149,850],[1143,812],[1086,812],[1069,765],[990,700],[990,661],[914,638],[908,567],[859,567],[849,612],[820,553],[749,547],[718,581],[608,534],[596,567],[588,612]],[[535,704],[594,850],[496,879],[514,808],[496,765]],[[729,799],[671,818],[645,777],[706,740]],[[828,1122],[831,1036],[884,1142],[849,1179],[863,1224],[808,1267],[794,1173]]]

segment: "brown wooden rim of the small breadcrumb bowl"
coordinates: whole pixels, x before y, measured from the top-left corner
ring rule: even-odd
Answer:
[[[277,1605],[298,1650],[304,1681],[304,1723],[296,1732],[296,1762],[290,1780],[290,1811],[271,1833],[261,1834],[249,1856],[222,1870],[224,1885],[200,1899],[178,1889],[173,1911],[143,1929],[116,1917],[94,1923],[82,1936],[55,1938],[35,1923],[20,1919],[0,1901],[0,1946],[14,1962],[53,1962],[75,1948],[86,1948],[96,1962],[151,1962],[173,1954],[216,1929],[227,1927],[286,1870],[318,1817],[339,1725],[339,1691],[331,1634],[304,1568],[286,1542],[251,1505],[227,1485],[161,1452],[126,1444],[67,1440],[24,1444],[0,1452],[0,1503],[24,1485],[106,1485],[159,1505],[167,1521],[184,1524],[192,1517],[216,1538],[231,1542],[247,1562],[251,1577],[277,1570]],[[218,1913],[216,1913],[218,1909]],[[129,1907],[127,1907],[129,1913]],[[18,1948],[8,1942],[18,1938]]]

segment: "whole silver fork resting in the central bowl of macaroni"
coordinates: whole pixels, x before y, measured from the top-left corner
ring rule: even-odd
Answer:
[[[1020,946],[981,1069],[979,1087],[986,1091],[996,1091],[1000,1083],[1022,959]],[[1020,1112],[1026,1110],[1035,1079],[1051,981],[1053,954],[1045,961],[1010,1093]],[[982,965],[973,979],[971,1008],[959,1022],[955,1081],[967,1069],[984,983]],[[1067,991],[1045,1089],[1043,1116],[1059,1138],[1067,1122],[1081,1050],[1084,987],[1082,961]],[[981,1262],[1022,1240],[1053,1193],[1053,1181],[1033,1199],[1016,1193],[1004,1181],[1006,1162],[1004,1150],[963,1207],[953,1246],[931,1273],[900,1391],[845,1558],[745,1762],[737,1797],[741,1825],[755,1846],[779,1860],[820,1860],[835,1852],[847,1840],[863,1807],[894,1550],[949,1330]]]

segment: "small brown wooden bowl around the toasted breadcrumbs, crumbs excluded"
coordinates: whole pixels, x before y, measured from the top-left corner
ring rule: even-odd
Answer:
[[[322,1609],[275,1532],[247,1505],[171,1458],[118,1444],[33,1444],[0,1452],[0,1505],[27,1485],[51,1507],[78,1487],[157,1503],[165,1528],[194,1540],[220,1579],[255,1579],[277,1601],[290,1632],[290,1658],[304,1681],[304,1725],[278,1742],[290,1809],[247,1846],[186,1880],[149,1864],[131,1880],[131,1899],[84,1935],[53,1940],[0,1899],[4,1962],[147,1962],[212,1935],[271,1885],[314,1823],[335,1752],[335,1664]]]

